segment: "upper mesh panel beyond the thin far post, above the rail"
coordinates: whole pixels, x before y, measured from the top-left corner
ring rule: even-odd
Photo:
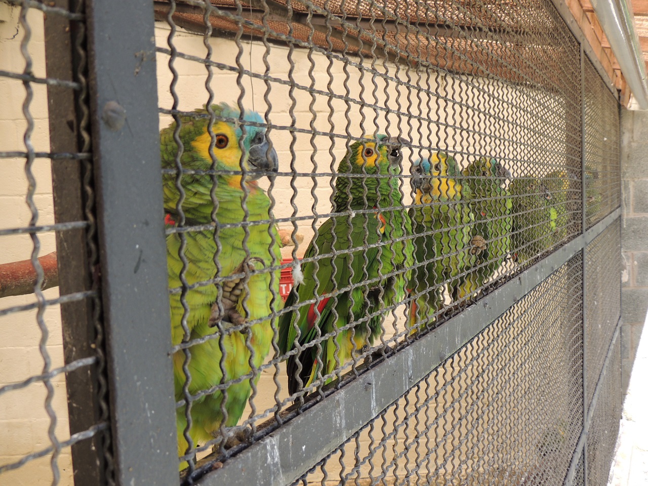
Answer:
[[[590,60],[584,62],[585,198],[588,227],[619,207],[619,104]]]

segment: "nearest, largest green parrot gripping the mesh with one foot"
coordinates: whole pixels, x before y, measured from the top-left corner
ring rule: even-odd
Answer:
[[[216,172],[216,176],[211,176],[200,172],[183,173],[181,184],[184,198],[180,197],[176,187],[176,174],[163,174],[167,226],[176,223],[183,223],[183,226],[209,225],[213,223],[214,211],[219,226],[216,235],[213,228],[186,231],[183,233],[184,249],[181,249],[183,242],[180,233],[167,236],[169,286],[183,286],[181,253],[187,259],[183,277],[186,279],[185,286],[189,286],[185,294],[170,295],[172,344],[205,338],[218,332],[219,327],[223,332],[222,337],[189,347],[191,360],[187,367],[191,372],[189,393],[192,395],[250,374],[251,365],[258,369],[272,343],[273,330],[269,316],[281,307],[280,270],[264,272],[264,269],[281,262],[279,235],[275,226],[268,224],[271,218],[270,199],[256,181],[264,174],[277,171],[277,154],[270,148],[264,128],[247,125],[244,135],[240,124],[220,121],[227,118],[239,120],[240,111],[236,108],[224,103],[211,108],[216,114],[211,149],[214,158],[209,154],[212,137],[207,132],[209,117],[204,116],[207,110],[195,111],[202,117],[181,117],[179,138],[183,145],[180,156],[183,172],[221,170],[235,171],[235,174]],[[259,114],[253,111],[245,111],[242,119],[262,122]],[[179,148],[174,141],[174,130],[176,122],[160,132],[162,167],[167,169],[176,168]],[[240,148],[241,139],[243,151]],[[212,192],[218,202],[216,208]],[[183,211],[184,222],[179,216],[179,207]],[[247,235],[245,227],[240,225],[244,221],[250,223],[246,226]],[[259,223],[255,224],[257,221]],[[214,278],[223,279],[222,284],[204,283]],[[182,295],[187,304],[186,312],[181,302]],[[185,318],[188,335],[185,335],[182,326]],[[255,320],[258,322],[247,324]],[[221,347],[226,351],[222,364]],[[248,347],[254,350],[251,363]],[[173,364],[176,400],[182,400],[183,385],[187,380],[183,371],[185,353],[182,350],[173,355]],[[258,379],[259,373],[254,381]],[[250,393],[251,379],[246,378],[232,383],[225,392],[219,389],[192,400],[192,423],[188,434],[194,446],[203,445],[220,435],[222,425],[235,426]],[[222,411],[224,399],[226,413]],[[185,406],[178,408],[177,422],[178,454],[183,456],[188,448],[184,436],[187,428]],[[186,465],[181,463],[181,469]]]

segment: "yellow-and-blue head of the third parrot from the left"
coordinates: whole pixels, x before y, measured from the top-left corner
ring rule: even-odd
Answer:
[[[411,185],[417,204],[461,198],[461,168],[446,152],[434,152],[432,157],[418,159],[411,168]]]

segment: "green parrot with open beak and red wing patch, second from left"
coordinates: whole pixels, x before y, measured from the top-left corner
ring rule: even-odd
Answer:
[[[291,395],[372,345],[387,312],[381,310],[406,296],[413,246],[406,238],[397,240],[411,234],[397,178],[401,161],[399,141],[386,135],[354,143],[340,161],[334,212],[346,214],[332,216],[319,227],[304,255],[303,281],[286,299],[286,308],[299,309],[279,318],[281,353],[292,351],[297,343],[303,348],[288,358]],[[318,255],[324,256],[308,261]],[[395,274],[383,276],[390,273]],[[371,314],[375,316],[367,319]],[[325,334],[330,335],[319,338]],[[324,384],[333,379],[325,378]]]

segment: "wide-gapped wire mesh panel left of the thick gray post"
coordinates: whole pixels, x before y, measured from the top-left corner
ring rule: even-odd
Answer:
[[[0,3],[2,484],[110,478],[81,4]]]

